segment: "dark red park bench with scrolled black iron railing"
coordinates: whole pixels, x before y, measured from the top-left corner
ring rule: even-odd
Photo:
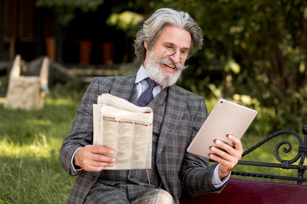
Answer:
[[[277,131],[246,150],[242,155],[242,159],[238,162],[238,165],[249,165],[251,168],[253,166],[260,166],[264,169],[277,168],[277,171],[274,170],[274,172],[291,170],[296,172],[297,170],[297,177],[286,176],[286,173],[283,173],[283,175],[270,175],[233,171],[230,180],[221,193],[208,193],[197,197],[181,197],[180,204],[307,204],[307,185],[306,183],[304,185],[304,182],[307,181],[307,178],[304,178],[304,173],[307,169],[307,166],[304,165],[304,160],[307,157],[307,125],[303,127],[303,134],[304,140],[294,131]],[[297,139],[297,142],[295,142],[295,144],[298,143],[297,146],[292,145],[288,140],[281,141],[276,145],[274,155],[278,160],[277,163],[244,160],[244,156],[264,143],[272,141],[271,139],[273,138],[290,139],[293,136]],[[280,156],[281,154],[290,154],[293,152],[292,150],[295,151],[294,154],[290,157],[288,156],[287,159],[281,159],[283,158]],[[269,154],[269,150],[267,152]],[[232,175],[236,175],[235,177],[239,178],[232,178]],[[242,179],[241,177],[263,179],[254,181]],[[287,181],[287,183],[281,181]]]

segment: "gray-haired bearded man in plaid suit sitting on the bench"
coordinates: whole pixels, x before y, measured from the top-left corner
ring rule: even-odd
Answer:
[[[64,169],[77,175],[67,204],[179,204],[182,191],[197,196],[223,189],[242,144],[232,135],[234,147],[217,140],[226,152],[211,147],[210,158],[218,162],[211,166],[209,159],[187,153],[207,109],[203,97],[175,85],[186,59],[202,45],[202,30],[188,13],[161,8],[136,35],[135,54],[143,62],[138,71],[92,81],[60,150]],[[143,92],[151,94],[151,101]],[[93,104],[102,93],[153,109],[152,169],[104,170],[116,158],[111,147],[92,145]]]

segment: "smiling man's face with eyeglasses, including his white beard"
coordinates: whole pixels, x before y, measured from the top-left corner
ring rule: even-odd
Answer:
[[[146,43],[144,45],[147,46]],[[186,68],[184,66],[186,59],[181,59],[182,53],[188,53],[190,45],[189,32],[177,27],[165,27],[156,39],[153,49],[147,50],[144,67],[150,78],[161,86],[175,84],[181,72]],[[174,52],[176,53],[171,54]]]

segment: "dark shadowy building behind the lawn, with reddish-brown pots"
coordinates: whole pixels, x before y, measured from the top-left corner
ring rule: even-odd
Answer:
[[[0,0],[0,60],[21,54],[26,61],[47,55],[63,64],[131,62],[133,39],[105,24],[109,2],[95,12],[76,10],[76,18],[62,26],[52,9],[35,7],[35,0]]]

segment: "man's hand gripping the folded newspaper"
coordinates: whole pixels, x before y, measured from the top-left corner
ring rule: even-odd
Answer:
[[[115,150],[100,145],[86,145],[77,150],[74,164],[84,171],[102,171],[106,166],[113,166],[116,159],[107,155],[114,155]]]

